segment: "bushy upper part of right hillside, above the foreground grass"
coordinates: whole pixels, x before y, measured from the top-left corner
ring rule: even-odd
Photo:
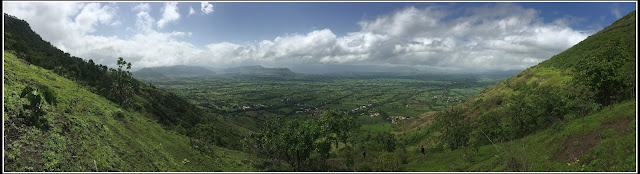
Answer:
[[[521,129],[510,132],[510,138],[517,138],[634,99],[635,18],[631,12],[549,60],[488,87],[461,107],[475,122],[493,122],[487,129],[502,127],[503,134]],[[511,125],[495,124],[509,115],[517,117],[509,120]]]

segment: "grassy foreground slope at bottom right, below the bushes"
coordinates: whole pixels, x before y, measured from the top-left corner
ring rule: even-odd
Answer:
[[[616,104],[584,120],[577,119],[559,128],[498,143],[498,148],[481,146],[475,153],[469,149],[425,156],[409,153],[410,162],[402,165],[402,170],[509,171],[507,157],[514,157],[519,161],[518,169],[526,171],[634,171],[635,107],[634,101]],[[407,151],[417,152],[417,147]]]

